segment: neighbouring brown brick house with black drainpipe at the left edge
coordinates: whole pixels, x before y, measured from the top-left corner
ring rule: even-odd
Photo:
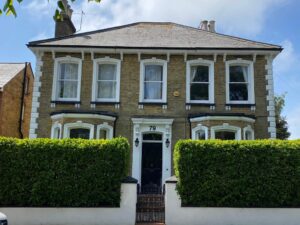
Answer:
[[[0,136],[29,136],[33,80],[30,63],[0,63]]]

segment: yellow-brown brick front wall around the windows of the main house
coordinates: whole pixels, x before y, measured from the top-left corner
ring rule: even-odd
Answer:
[[[81,58],[81,54],[70,53],[56,53],[56,57],[71,55],[73,57]],[[101,55],[95,54],[95,58],[108,56],[109,54]],[[113,58],[120,58],[119,55],[109,55]],[[167,59],[165,55],[142,55],[141,58],[157,57]],[[195,58],[213,59],[212,56],[188,56],[188,60]],[[231,59],[249,59],[252,56],[228,56],[227,60]],[[54,60],[52,54],[45,53],[43,56],[42,77],[41,83],[41,97],[38,118],[38,137],[50,137],[51,132],[51,118],[50,113],[59,110],[76,110],[74,105],[61,105],[56,104],[55,108],[50,107],[52,81],[53,81],[53,68]],[[134,116],[160,116],[167,118],[174,118],[172,126],[172,143],[180,138],[190,138],[190,127],[188,122],[188,114],[193,113],[246,113],[256,116],[254,124],[256,138],[268,138],[267,132],[267,102],[266,102],[266,81],[265,81],[265,64],[264,56],[257,56],[254,63],[255,74],[255,101],[256,111],[251,111],[250,107],[232,107],[231,111],[225,110],[225,63],[223,57],[217,57],[215,63],[215,103],[216,108],[211,111],[209,106],[192,106],[191,110],[185,108],[185,79],[186,79],[186,63],[183,55],[171,55],[168,63],[168,86],[167,86],[167,101],[168,108],[162,109],[158,105],[144,105],[143,109],[138,108],[139,102],[139,78],[140,78],[140,63],[137,54],[124,54],[121,63],[121,96],[120,108],[115,109],[112,105],[96,105],[95,109],[90,107],[91,90],[92,90],[92,77],[93,77],[93,61],[90,54],[85,54],[82,64],[82,83],[81,83],[81,106],[80,110],[96,110],[96,111],[110,111],[118,114],[116,122],[116,135],[122,135],[129,139],[132,143],[133,125],[131,118]],[[174,91],[180,94],[174,97]],[[227,121],[224,121],[227,122]],[[220,121],[220,125],[223,124]]]

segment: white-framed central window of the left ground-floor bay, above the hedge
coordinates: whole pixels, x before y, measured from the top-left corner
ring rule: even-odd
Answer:
[[[94,125],[77,121],[64,124],[64,138],[94,138]]]

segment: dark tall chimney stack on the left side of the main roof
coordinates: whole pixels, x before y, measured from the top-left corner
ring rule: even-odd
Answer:
[[[69,36],[76,32],[76,28],[71,20],[73,10],[68,4],[68,0],[62,0],[65,12],[61,12],[62,20],[55,21],[55,37]]]

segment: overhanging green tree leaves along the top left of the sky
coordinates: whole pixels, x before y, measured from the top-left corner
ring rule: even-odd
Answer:
[[[2,9],[0,9],[0,15],[5,13],[6,15],[14,15],[15,17],[17,16],[17,12],[15,9],[15,2],[17,1],[18,3],[22,3],[23,0],[3,0],[4,1],[4,6]],[[40,0],[43,1],[43,0]],[[46,0],[44,0],[46,1]],[[50,0],[48,0],[50,1]],[[65,12],[65,6],[63,4],[63,0],[55,0],[57,1],[57,8],[55,10],[55,14],[53,16],[54,20],[62,20],[61,13]],[[71,2],[75,2],[76,0],[71,0]],[[100,3],[101,0],[87,0],[88,2],[97,2]]]

